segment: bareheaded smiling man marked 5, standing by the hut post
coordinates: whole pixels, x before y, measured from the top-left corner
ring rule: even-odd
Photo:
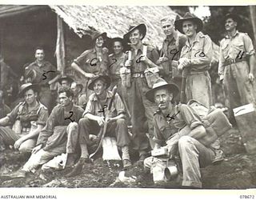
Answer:
[[[36,60],[25,68],[25,81],[40,85],[39,100],[49,111],[54,107],[53,100],[56,90],[54,82],[60,78],[60,73],[50,62],[45,61],[45,52],[42,47],[35,49]]]

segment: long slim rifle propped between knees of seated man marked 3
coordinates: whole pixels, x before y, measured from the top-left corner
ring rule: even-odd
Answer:
[[[105,121],[106,121],[106,118],[108,118],[108,114],[110,113],[110,109],[111,109],[113,101],[114,101],[114,96],[117,93],[117,89],[118,89],[118,87],[114,86],[114,88],[112,90],[112,97],[110,99],[109,105],[107,106]],[[102,141],[103,141],[103,138],[105,137],[105,134],[106,134],[107,125],[108,125],[108,123],[105,122],[104,126],[101,127],[101,130],[99,131],[99,134],[98,134],[99,142],[98,142],[97,149],[94,151],[94,153],[90,154],[89,158],[94,157],[94,155],[97,154],[98,150],[102,146]]]

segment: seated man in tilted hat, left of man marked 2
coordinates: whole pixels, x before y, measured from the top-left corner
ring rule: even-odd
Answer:
[[[38,102],[38,86],[32,83],[23,84],[19,96],[24,97],[25,102],[18,103],[10,114],[0,119],[0,140],[21,152],[30,152],[46,125],[48,110]]]

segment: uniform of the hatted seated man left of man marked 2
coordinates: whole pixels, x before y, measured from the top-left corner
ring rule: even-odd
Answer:
[[[32,110],[28,110],[26,102],[20,102],[18,106],[14,107],[14,110],[7,114],[7,117],[10,118],[10,122],[14,124],[15,122],[18,124],[18,131],[11,130],[9,127],[0,126],[0,137],[2,138],[2,142],[6,145],[14,145],[14,142],[21,138],[23,135],[29,134],[30,129],[36,128],[38,125],[45,126],[46,120],[48,118],[48,110],[46,106],[42,105],[42,103],[38,102],[38,105],[35,106]],[[30,152],[35,144],[37,138],[31,138],[22,142],[19,147],[20,151]]]

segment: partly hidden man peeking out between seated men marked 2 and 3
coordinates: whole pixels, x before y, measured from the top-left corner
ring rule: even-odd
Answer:
[[[82,107],[82,109],[86,108],[86,94],[82,93],[82,84],[77,82],[72,82],[70,86],[71,90],[73,91],[74,98],[73,102],[74,105]]]

